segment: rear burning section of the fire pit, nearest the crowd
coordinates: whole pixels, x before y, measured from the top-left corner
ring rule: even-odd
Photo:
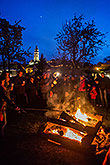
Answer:
[[[92,114],[87,115],[82,113],[80,109],[72,114],[62,112],[59,119],[73,123],[76,129],[80,129],[83,132],[85,131],[88,134],[96,133],[103,122],[103,116]]]

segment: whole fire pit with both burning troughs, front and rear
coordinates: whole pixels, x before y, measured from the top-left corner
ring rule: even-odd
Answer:
[[[103,117],[98,115],[83,117],[83,114],[79,117],[77,112],[70,115],[63,111],[58,119],[48,118],[47,123],[40,128],[40,133],[49,142],[57,145],[80,151],[92,151],[92,142]]]

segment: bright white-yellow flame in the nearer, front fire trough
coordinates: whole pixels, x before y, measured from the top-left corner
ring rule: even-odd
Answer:
[[[69,139],[72,139],[72,140],[77,140],[79,142],[81,142],[81,140],[82,140],[82,137],[81,136],[79,136],[77,133],[74,133],[69,128],[67,129],[67,132],[63,136],[64,137],[67,137]]]

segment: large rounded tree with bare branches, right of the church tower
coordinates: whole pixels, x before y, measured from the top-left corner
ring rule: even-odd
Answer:
[[[58,54],[66,55],[77,67],[84,61],[89,61],[98,54],[106,44],[106,33],[100,32],[94,20],[84,22],[84,16],[80,15],[62,25],[62,29],[56,35]]]

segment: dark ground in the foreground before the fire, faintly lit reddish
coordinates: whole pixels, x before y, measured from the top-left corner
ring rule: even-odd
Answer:
[[[43,113],[27,113],[14,118],[0,139],[0,164],[3,165],[101,165],[105,154],[93,155],[57,146],[37,135]],[[36,123],[37,124],[36,124]],[[34,129],[33,129],[33,127]],[[29,127],[30,126],[30,127]],[[26,131],[26,129],[31,130]],[[9,133],[10,132],[10,133]]]

